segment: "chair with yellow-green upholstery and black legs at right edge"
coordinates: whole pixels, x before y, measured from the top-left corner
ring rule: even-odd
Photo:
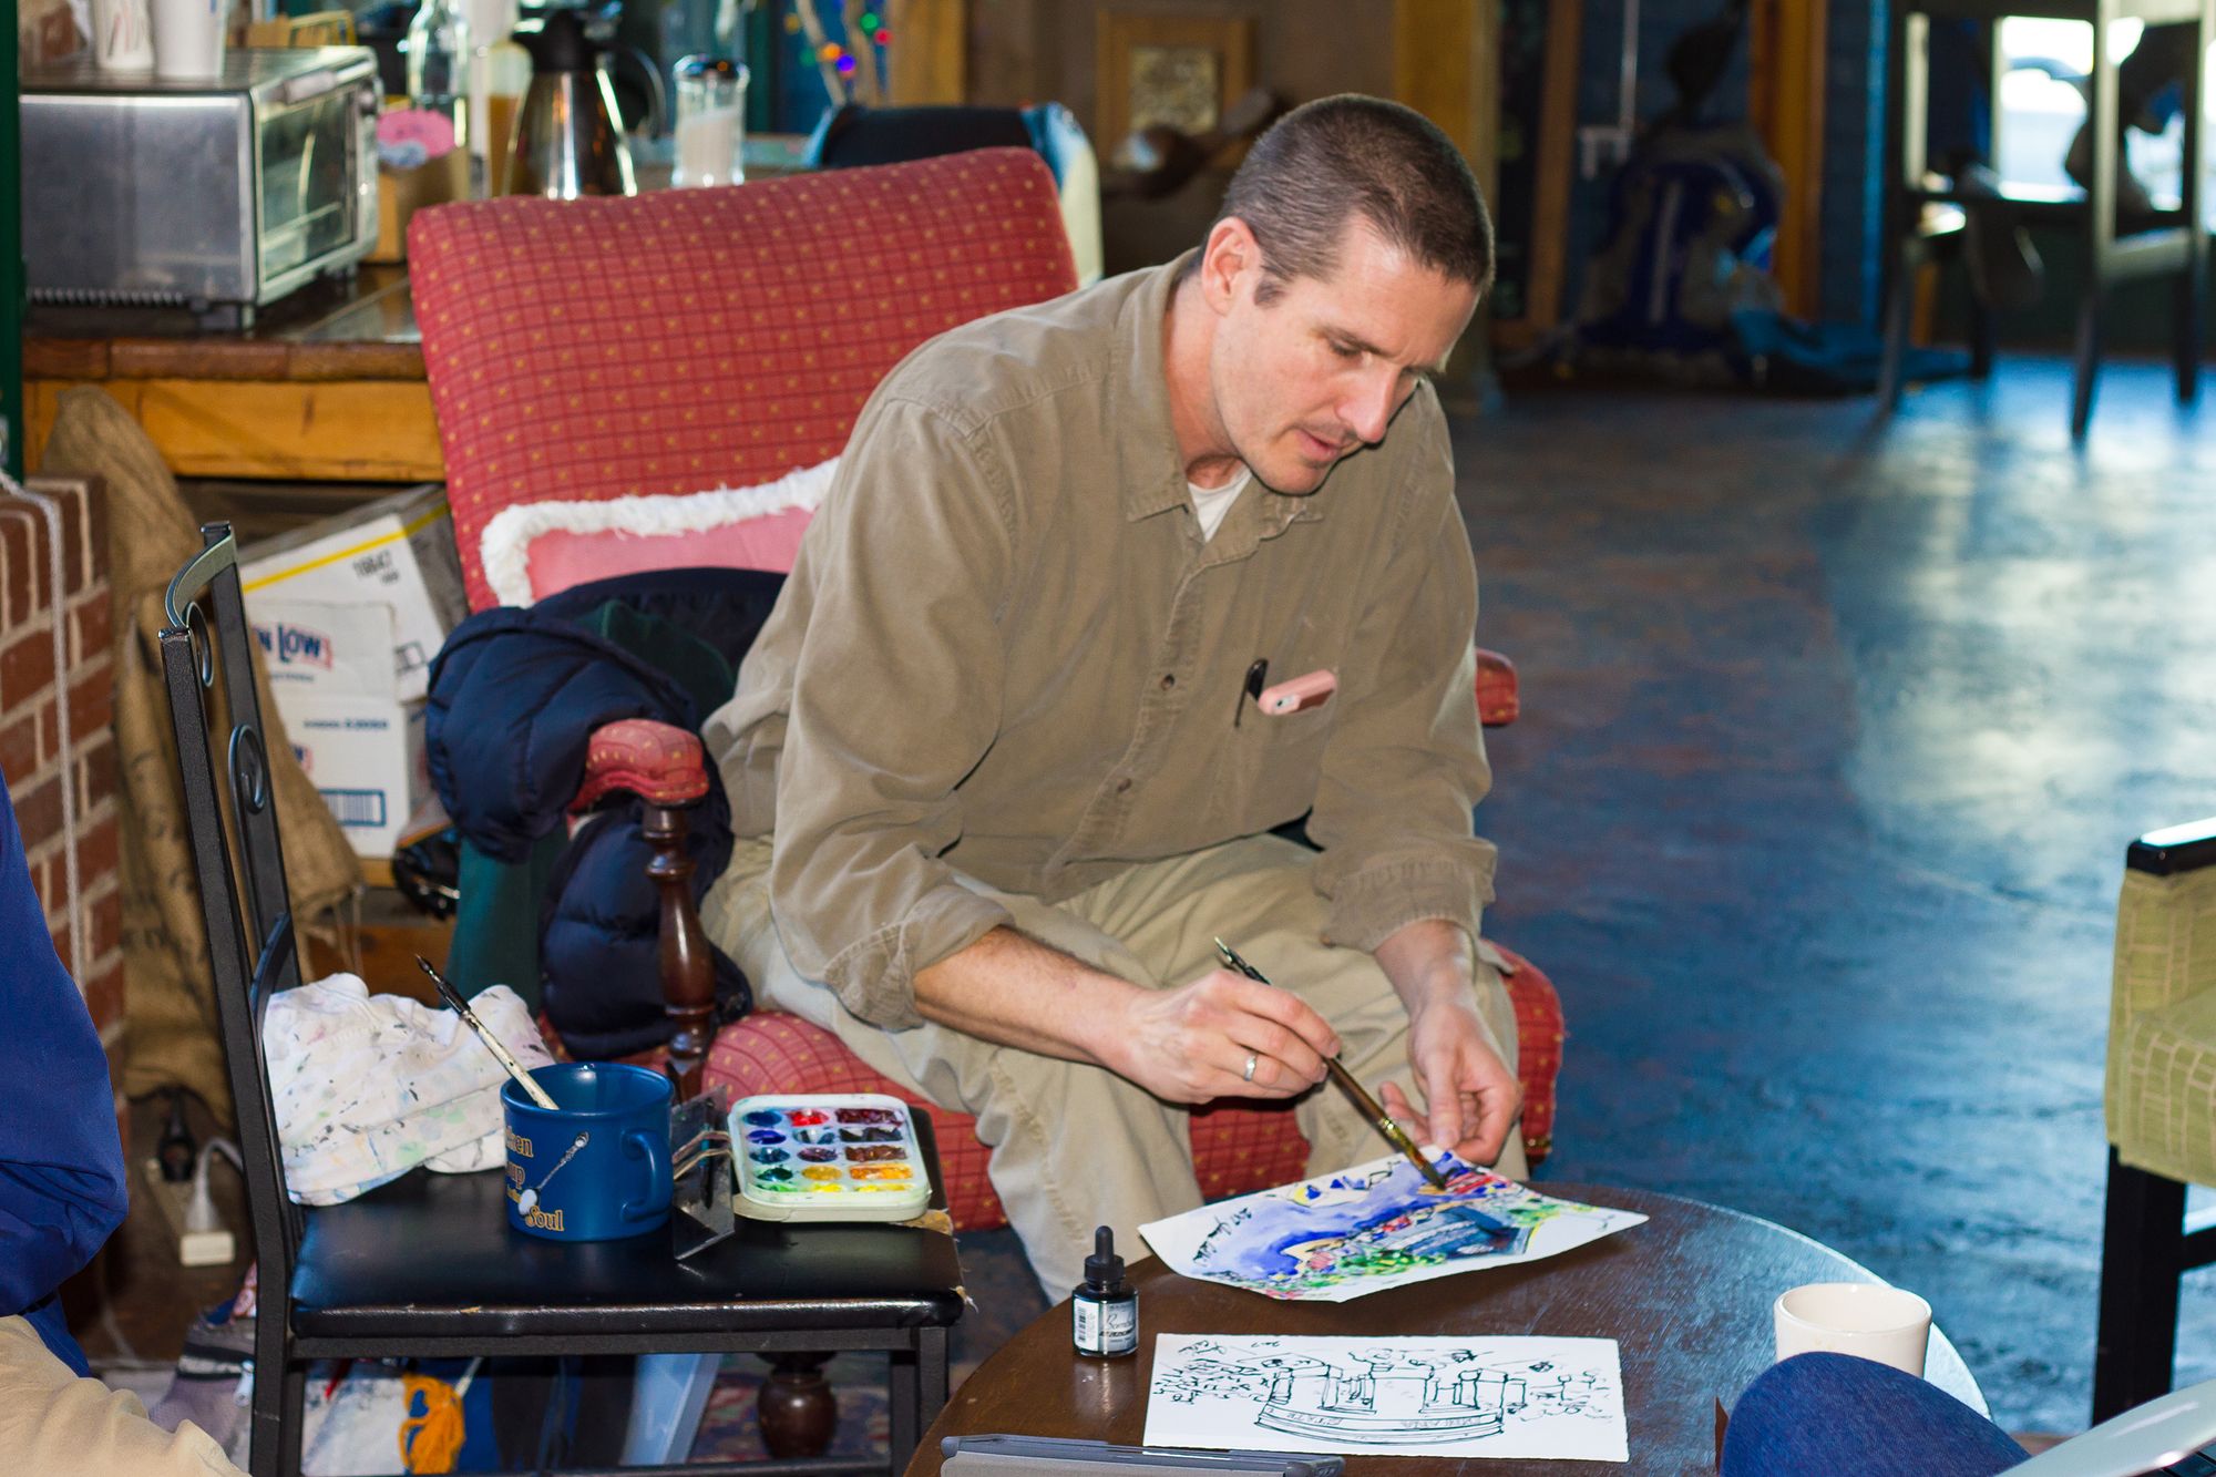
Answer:
[[[2216,1184],[2216,818],[2130,845],[2107,1005],[2107,1224],[2092,1417],[2165,1393],[2178,1280],[2216,1262],[2216,1222],[2185,1186]]]

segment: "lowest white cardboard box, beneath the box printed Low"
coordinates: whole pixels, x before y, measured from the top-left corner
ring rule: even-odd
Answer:
[[[286,738],[355,856],[386,858],[430,796],[423,703],[355,692],[281,692]]]

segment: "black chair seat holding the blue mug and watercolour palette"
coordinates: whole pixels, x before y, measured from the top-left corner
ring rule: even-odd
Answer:
[[[550,1242],[507,1224],[503,1173],[414,1171],[308,1213],[293,1271],[304,1340],[753,1333],[946,1326],[953,1237],[920,1226],[778,1224],[687,1262],[665,1226]]]

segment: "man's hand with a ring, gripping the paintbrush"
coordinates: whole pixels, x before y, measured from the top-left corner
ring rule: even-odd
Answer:
[[[1338,1033],[1305,1000],[1230,969],[1135,991],[1124,1016],[1106,1065],[1166,1102],[1292,1098],[1321,1082],[1323,1058],[1338,1053]]]

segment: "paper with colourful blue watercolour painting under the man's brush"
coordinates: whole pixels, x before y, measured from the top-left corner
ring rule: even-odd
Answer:
[[[1540,1195],[1451,1153],[1440,1153],[1436,1167],[1447,1175],[1445,1191],[1392,1155],[1203,1204],[1139,1233],[1188,1277],[1268,1297],[1350,1302],[1409,1282],[1538,1262],[1646,1220]]]

